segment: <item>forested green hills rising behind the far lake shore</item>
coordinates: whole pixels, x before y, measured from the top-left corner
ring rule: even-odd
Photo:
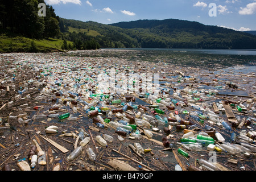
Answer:
[[[72,33],[72,28],[80,28],[80,39],[83,39],[82,31],[83,36],[89,36],[89,32],[93,32],[96,35],[93,40],[96,40],[100,47],[256,49],[254,35],[187,20],[136,20],[114,24],[63,18],[61,20],[64,26],[69,27],[69,34]],[[73,33],[79,34],[77,29]],[[67,39],[76,42],[74,38],[75,35],[73,39]]]

